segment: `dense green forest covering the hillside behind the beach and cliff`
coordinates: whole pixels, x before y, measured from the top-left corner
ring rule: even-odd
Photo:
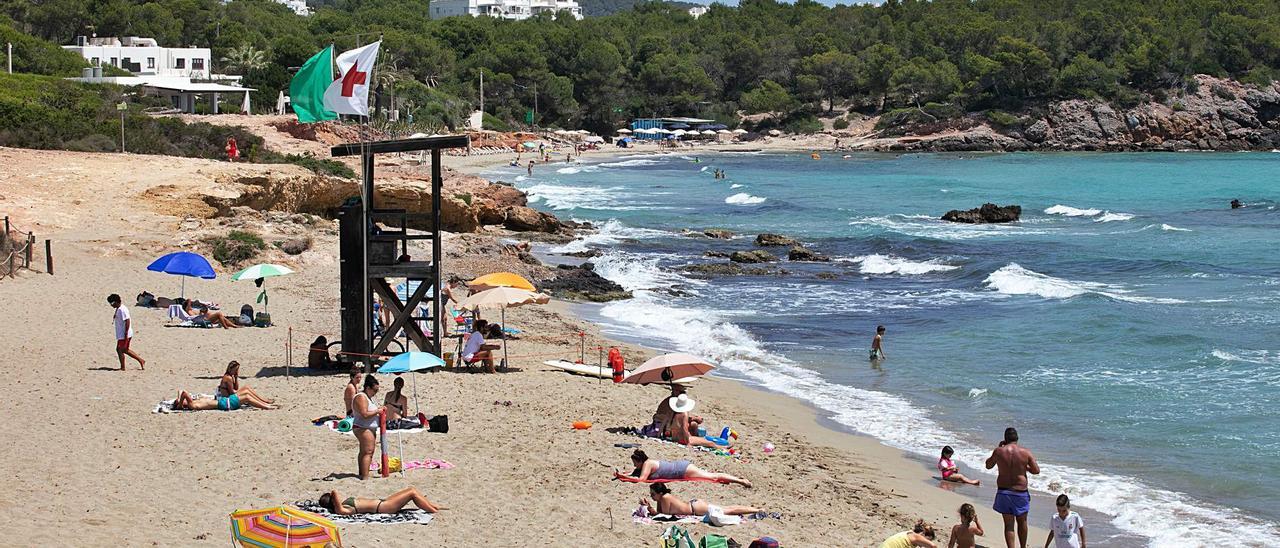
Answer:
[[[833,106],[872,113],[929,102],[1020,109],[1060,97],[1132,104],[1196,73],[1270,82],[1280,67],[1274,0],[938,0],[828,8],[809,0],[663,3],[573,20],[431,20],[422,0],[333,0],[298,17],[270,0],[0,0],[22,32],[154,36],[214,49],[270,105],[325,44],[384,38],[379,79],[420,120],[457,124],[479,104],[522,122],[607,131],[636,115],[726,122],[767,113],[804,128]],[[0,23],[3,26],[3,23]],[[357,37],[356,35],[360,33]],[[38,63],[33,64],[38,67]],[[51,72],[60,70],[50,67]],[[937,106],[937,105],[934,105]]]

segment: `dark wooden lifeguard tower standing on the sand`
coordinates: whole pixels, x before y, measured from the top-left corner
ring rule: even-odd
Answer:
[[[467,136],[439,136],[393,141],[352,142],[333,147],[333,156],[361,156],[361,196],[352,197],[338,214],[340,255],[342,352],[339,361],[364,361],[372,356],[406,351],[396,335],[403,329],[419,351],[440,355],[440,156],[444,149],[470,146]],[[374,196],[374,156],[388,152],[431,151],[431,211],[408,213],[380,209]],[[422,223],[422,222],[426,223]],[[410,234],[410,225],[429,227]],[[411,241],[430,241],[431,257],[410,259]],[[403,260],[402,260],[403,259]],[[389,279],[403,279],[406,298],[401,298]],[[375,329],[374,294],[390,311],[390,321]],[[422,316],[417,311],[426,310]],[[430,325],[430,333],[422,330]],[[392,344],[398,348],[390,350]],[[366,367],[366,369],[367,369]]]

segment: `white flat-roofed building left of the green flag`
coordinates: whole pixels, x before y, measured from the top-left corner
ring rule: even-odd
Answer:
[[[212,55],[209,47],[160,47],[155,38],[90,38],[78,36],[63,49],[81,54],[93,67],[116,67],[136,76],[209,78]]]

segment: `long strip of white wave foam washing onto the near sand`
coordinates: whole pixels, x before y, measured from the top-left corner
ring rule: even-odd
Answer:
[[[657,294],[616,301],[602,311],[605,330],[658,338],[675,350],[719,364],[718,373],[742,376],[767,389],[809,402],[836,423],[927,458],[942,446],[956,460],[982,462],[987,447],[966,442],[936,423],[924,408],[895,394],[827,382],[818,373],[771,352],[742,328],[723,321],[719,311],[689,310],[668,305]],[[984,396],[974,388],[970,397]],[[977,471],[979,475],[989,474]],[[1128,533],[1149,539],[1153,547],[1217,545],[1222,538],[1245,538],[1257,545],[1277,545],[1280,530],[1226,508],[1190,499],[1183,493],[1157,489],[1142,481],[1074,466],[1041,461],[1041,474],[1030,487],[1044,493],[1070,493],[1073,502],[1112,517]]]

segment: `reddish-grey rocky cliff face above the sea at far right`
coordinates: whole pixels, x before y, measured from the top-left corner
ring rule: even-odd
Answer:
[[[1166,102],[1117,109],[1101,101],[1051,102],[1021,128],[878,140],[876,150],[1270,150],[1280,147],[1280,82],[1266,87],[1196,76]]]

